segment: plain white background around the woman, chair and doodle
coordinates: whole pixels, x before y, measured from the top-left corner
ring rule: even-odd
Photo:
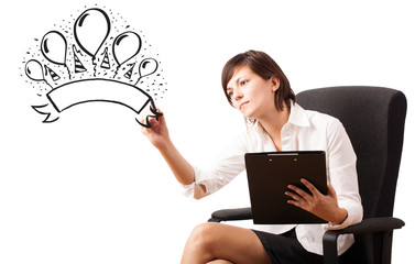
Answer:
[[[294,91],[370,85],[408,100],[394,216],[393,263],[412,258],[415,15],[409,1],[9,1],[0,34],[0,263],[178,263],[193,227],[249,205],[243,175],[199,201],[185,198],[131,110],[78,106],[51,124],[20,76],[33,38],[78,10],[106,7],[160,54],[168,92],[157,107],[182,154],[203,166],[242,118],[220,86],[223,64],[269,53]],[[362,113],[364,114],[364,113]]]

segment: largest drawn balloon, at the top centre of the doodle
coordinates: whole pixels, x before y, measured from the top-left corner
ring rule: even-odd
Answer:
[[[110,32],[110,21],[101,9],[88,9],[75,21],[74,35],[79,47],[95,57]]]

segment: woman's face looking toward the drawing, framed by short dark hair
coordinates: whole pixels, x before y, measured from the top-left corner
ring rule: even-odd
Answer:
[[[260,120],[267,111],[275,111],[274,92],[279,87],[276,77],[264,80],[249,66],[239,66],[228,82],[227,92],[233,107],[244,117]]]

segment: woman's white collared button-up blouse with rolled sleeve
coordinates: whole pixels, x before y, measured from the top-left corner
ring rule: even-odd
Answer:
[[[341,229],[359,223],[363,208],[359,195],[356,170],[356,154],[349,136],[340,121],[316,111],[304,110],[292,102],[288,122],[281,131],[283,151],[325,151],[327,178],[337,193],[340,208],[348,211],[341,224],[255,224],[254,229],[272,233],[283,233],[296,228],[299,243],[309,252],[323,254],[323,235],[328,229]],[[231,144],[211,163],[209,169],[195,169],[195,182],[183,186],[185,193],[194,198],[210,195],[245,169],[244,154],[248,152],[275,152],[270,135],[258,122],[247,124]],[[204,185],[206,191],[200,186]],[[342,254],[354,242],[352,234],[340,235],[338,252]]]

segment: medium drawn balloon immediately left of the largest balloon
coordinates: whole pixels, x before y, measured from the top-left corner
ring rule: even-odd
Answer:
[[[41,51],[50,62],[65,65],[66,61],[66,40],[58,31],[47,32],[41,43]]]

